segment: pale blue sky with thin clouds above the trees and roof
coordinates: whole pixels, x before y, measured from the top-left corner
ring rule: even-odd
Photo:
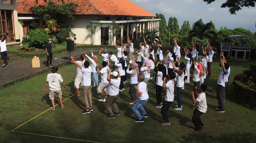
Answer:
[[[216,0],[208,4],[203,0],[130,0],[153,14],[162,13],[166,21],[176,17],[180,27],[183,21],[189,20],[190,25],[202,18],[204,23],[212,22],[216,29],[226,26],[229,29],[242,27],[253,33],[256,31],[256,8],[243,8],[233,15],[228,9],[222,9],[221,4],[226,0]]]

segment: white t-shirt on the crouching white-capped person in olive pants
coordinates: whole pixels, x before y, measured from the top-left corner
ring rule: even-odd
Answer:
[[[119,86],[120,86],[121,78],[117,77],[117,79],[111,79],[111,82],[108,83],[108,95],[116,96],[119,94]]]

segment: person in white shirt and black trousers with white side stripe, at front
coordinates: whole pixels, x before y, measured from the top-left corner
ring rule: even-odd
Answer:
[[[169,117],[168,117],[168,110],[170,106],[172,105],[172,102],[174,100],[174,81],[173,79],[176,77],[175,73],[170,73],[167,75],[167,77],[164,77],[163,79],[163,88],[166,88],[166,98],[163,103],[163,107],[161,109],[161,114],[163,117],[163,122],[161,125],[171,125],[169,122]],[[166,83],[166,79],[168,82]]]

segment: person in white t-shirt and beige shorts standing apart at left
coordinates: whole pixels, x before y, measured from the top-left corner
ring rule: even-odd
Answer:
[[[58,72],[58,67],[55,66],[52,68],[52,73],[47,75],[45,86],[44,86],[44,92],[46,91],[47,85],[49,83],[49,98],[52,103],[51,109],[54,111],[55,110],[55,105],[54,105],[54,95],[55,93],[58,94],[58,98],[61,103],[61,108],[64,108],[64,105],[62,104],[62,92],[61,92],[61,85],[60,82],[63,84],[65,89],[67,89],[67,86],[65,82],[63,81],[61,74],[57,74]]]

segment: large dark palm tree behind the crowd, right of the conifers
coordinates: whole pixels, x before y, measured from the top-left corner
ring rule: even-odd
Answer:
[[[204,24],[200,19],[192,25],[192,30],[189,32],[189,37],[199,37],[200,39],[208,38],[213,40],[216,37],[215,25],[210,21]]]

